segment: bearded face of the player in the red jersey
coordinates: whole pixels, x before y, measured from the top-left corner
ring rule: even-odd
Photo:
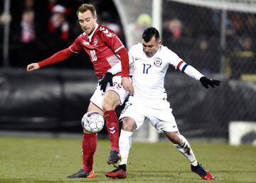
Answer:
[[[90,35],[90,33],[95,29],[97,16],[92,16],[92,12],[87,10],[84,13],[78,13],[78,20],[82,30],[86,34]]]

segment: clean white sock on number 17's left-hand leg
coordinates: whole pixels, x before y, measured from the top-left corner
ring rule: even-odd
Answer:
[[[119,153],[121,155],[121,162],[119,165],[126,165],[129,155],[129,150],[132,147],[132,133],[121,130],[119,137]]]

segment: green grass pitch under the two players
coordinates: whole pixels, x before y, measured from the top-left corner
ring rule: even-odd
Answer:
[[[256,182],[256,148],[224,143],[191,143],[199,162],[215,182]],[[107,179],[110,143],[99,140],[94,179],[67,179],[82,165],[81,140],[0,138],[0,182],[205,182],[169,142],[133,143],[127,179]]]

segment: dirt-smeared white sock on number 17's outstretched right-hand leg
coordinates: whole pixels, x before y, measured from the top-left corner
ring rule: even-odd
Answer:
[[[196,160],[195,155],[193,154],[193,150],[190,147],[188,140],[186,140],[186,138],[183,137],[183,135],[179,135],[179,137],[182,140],[181,145],[174,144],[176,146],[176,148],[178,149],[178,151],[181,152],[188,159],[188,161],[190,162],[191,165],[193,165],[193,166],[198,165],[198,162]]]

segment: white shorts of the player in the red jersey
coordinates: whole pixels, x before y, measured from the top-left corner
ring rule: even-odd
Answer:
[[[124,103],[124,100],[127,99],[127,96],[129,94],[129,92],[122,87],[121,83],[122,83],[122,77],[114,76],[113,87],[110,87],[108,84],[106,89],[106,91],[112,90],[118,94],[120,99],[120,106],[122,106],[122,104]],[[92,97],[90,98],[90,102],[92,102],[92,104],[95,104],[95,106],[97,106],[98,108],[102,109],[102,101],[104,98],[104,94],[105,93],[102,90],[100,90],[100,85],[97,84],[97,88],[94,94],[92,95]]]

